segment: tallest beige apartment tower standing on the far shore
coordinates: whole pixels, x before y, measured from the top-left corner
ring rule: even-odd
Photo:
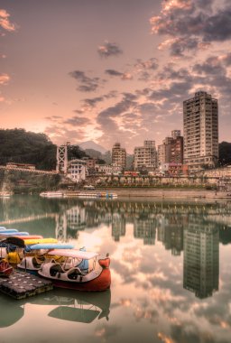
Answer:
[[[215,167],[218,160],[217,99],[199,91],[183,102],[184,163],[189,170]]]

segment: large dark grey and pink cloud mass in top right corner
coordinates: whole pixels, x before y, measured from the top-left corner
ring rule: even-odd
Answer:
[[[173,37],[159,45],[169,46],[171,55],[206,49],[212,42],[231,39],[231,5],[212,10],[213,0],[171,0],[164,2],[160,15],[150,19],[152,33]],[[216,11],[216,12],[215,12]]]

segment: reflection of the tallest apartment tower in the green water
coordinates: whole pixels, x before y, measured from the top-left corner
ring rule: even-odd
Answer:
[[[201,299],[218,291],[219,230],[216,223],[190,218],[184,229],[183,287]]]

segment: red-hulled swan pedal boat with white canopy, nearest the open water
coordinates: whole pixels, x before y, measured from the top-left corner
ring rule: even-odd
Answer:
[[[77,249],[54,249],[48,255],[60,255],[64,261],[46,260],[39,275],[52,280],[55,287],[78,291],[99,292],[110,288],[110,258],[98,259],[94,252]],[[88,260],[88,271],[79,268],[83,260]]]

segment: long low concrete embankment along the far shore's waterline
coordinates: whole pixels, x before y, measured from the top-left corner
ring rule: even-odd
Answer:
[[[120,198],[170,198],[170,199],[231,199],[231,195],[227,195],[223,191],[215,190],[186,190],[186,189],[146,189],[146,188],[110,188],[100,189],[100,191],[115,192]]]

